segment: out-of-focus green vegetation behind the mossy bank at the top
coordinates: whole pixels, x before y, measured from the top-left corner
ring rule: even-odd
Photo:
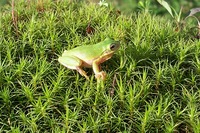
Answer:
[[[25,0],[26,1],[26,0]],[[45,0],[36,0],[36,1],[45,1]],[[60,0],[54,0],[60,1]],[[83,1],[83,0],[69,0],[73,1]],[[98,3],[100,0],[87,0],[88,2]],[[17,2],[17,1],[16,1]],[[139,11],[146,8],[150,13],[157,15],[166,14],[169,16],[169,13],[165,8],[163,8],[157,0],[105,0],[107,3],[114,4],[120,11],[123,13],[130,14],[134,11]],[[171,7],[173,7],[177,12],[183,8],[182,13],[186,16],[189,13],[189,10],[195,7],[200,7],[199,0],[166,0]],[[0,0],[0,7],[11,3],[11,0]],[[143,6],[141,6],[143,4]]]

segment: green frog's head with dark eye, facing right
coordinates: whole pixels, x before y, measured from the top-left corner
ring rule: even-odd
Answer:
[[[107,53],[107,54],[112,54],[114,53],[115,51],[117,51],[120,47],[120,42],[119,41],[115,41],[114,39],[112,38],[106,38],[104,40],[104,44],[105,44],[105,51],[104,53]]]

